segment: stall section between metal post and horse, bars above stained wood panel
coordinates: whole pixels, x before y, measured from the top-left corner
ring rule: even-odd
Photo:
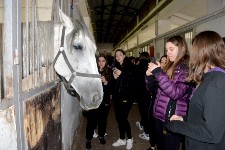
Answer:
[[[52,1],[26,0],[26,22],[22,22],[22,91],[27,149],[62,147],[61,92],[52,65],[51,8]]]

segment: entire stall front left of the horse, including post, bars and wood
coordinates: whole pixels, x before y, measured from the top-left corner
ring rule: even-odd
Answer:
[[[0,0],[1,150],[62,147],[52,2]]]

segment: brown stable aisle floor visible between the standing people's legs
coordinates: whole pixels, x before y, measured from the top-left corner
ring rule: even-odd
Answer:
[[[137,104],[134,104],[132,106],[128,119],[130,121],[132,135],[134,139],[134,145],[132,150],[146,150],[147,148],[149,148],[150,144],[148,141],[139,138],[139,134],[143,133],[143,131],[140,131],[138,127],[135,125],[135,122],[140,120]],[[79,129],[78,129],[77,137],[74,139],[75,142],[73,145],[73,150],[85,150],[85,143],[86,143],[85,127],[86,127],[86,118],[82,117],[80,125],[78,127]],[[108,117],[108,126],[106,129],[106,132],[108,134],[105,137],[107,144],[105,146],[101,146],[98,141],[98,138],[93,138],[92,140],[93,150],[125,150],[126,149],[126,146],[120,146],[120,147],[112,146],[112,143],[119,138],[119,130],[117,127],[117,122],[115,120],[113,106],[111,106],[110,108],[110,113]]]

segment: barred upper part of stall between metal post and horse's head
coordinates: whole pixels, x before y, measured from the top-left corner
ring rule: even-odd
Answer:
[[[35,1],[32,2],[32,20],[30,21],[29,3],[26,7],[26,23],[23,31],[23,91],[56,80],[52,67],[53,30],[52,21],[38,21]]]

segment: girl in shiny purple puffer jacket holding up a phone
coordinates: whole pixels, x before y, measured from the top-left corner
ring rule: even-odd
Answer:
[[[187,44],[181,36],[169,38],[166,50],[166,66],[162,69],[159,62],[149,63],[146,82],[152,83],[150,80],[153,75],[158,85],[153,106],[157,150],[179,150],[181,137],[165,130],[165,125],[172,113],[186,115],[189,99],[187,90],[190,86],[185,80],[188,77],[189,56]]]

